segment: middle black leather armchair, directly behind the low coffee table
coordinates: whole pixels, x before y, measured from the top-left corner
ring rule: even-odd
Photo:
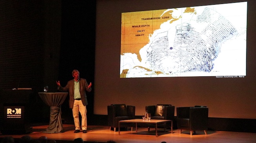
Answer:
[[[157,104],[156,106],[146,106],[145,110],[148,111],[148,113],[151,114],[151,119],[156,120],[174,120],[174,110],[175,107],[171,104]],[[167,125],[166,125],[167,124]],[[170,127],[171,123],[165,123],[165,124],[159,124],[159,128],[164,128],[166,130],[166,127]],[[150,128],[154,127],[154,124],[147,124],[148,131],[150,131]]]

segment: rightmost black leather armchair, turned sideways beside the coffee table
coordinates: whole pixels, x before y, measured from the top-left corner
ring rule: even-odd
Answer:
[[[192,136],[193,132],[208,130],[208,108],[206,106],[195,107],[177,107],[177,127],[182,130],[189,130]]]

